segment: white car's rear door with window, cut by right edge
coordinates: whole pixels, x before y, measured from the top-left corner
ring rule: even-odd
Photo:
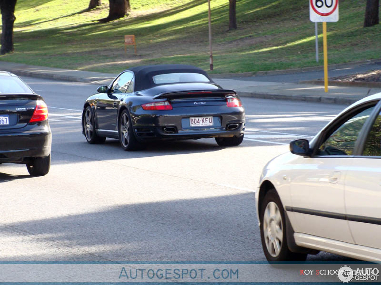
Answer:
[[[348,169],[345,200],[355,243],[381,249],[381,112],[376,111]]]

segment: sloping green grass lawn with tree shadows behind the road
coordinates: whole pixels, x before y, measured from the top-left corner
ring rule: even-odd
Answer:
[[[209,68],[206,0],[130,0],[132,12],[109,23],[108,1],[18,0],[13,54],[0,60],[117,73],[134,65],[187,63]],[[365,0],[341,1],[328,23],[328,63],[381,58],[381,25],[363,28]],[[322,65],[315,61],[315,26],[305,0],[237,0],[237,30],[228,31],[228,0],[211,0],[213,73]],[[123,36],[135,35],[124,51]]]

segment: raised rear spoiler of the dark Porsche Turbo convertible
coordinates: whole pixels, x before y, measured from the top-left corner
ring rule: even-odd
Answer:
[[[181,92],[163,92],[155,95],[152,99],[179,99],[179,98],[205,98],[205,97],[226,97],[227,95],[237,96],[237,92],[227,89],[213,90],[189,90]]]

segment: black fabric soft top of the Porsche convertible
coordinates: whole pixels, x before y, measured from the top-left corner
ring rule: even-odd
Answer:
[[[158,84],[152,79],[152,76],[157,74],[165,73],[177,73],[177,72],[190,72],[190,73],[201,73],[205,75],[210,82],[213,80],[209,75],[203,71],[201,68],[195,67],[193,65],[184,64],[160,64],[160,65],[144,65],[138,67],[131,67],[127,70],[132,71],[135,74],[135,91],[140,91],[148,89]]]

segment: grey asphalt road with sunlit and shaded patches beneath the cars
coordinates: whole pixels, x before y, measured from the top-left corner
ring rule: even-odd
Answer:
[[[24,79],[49,106],[52,165],[44,177],[0,165],[0,261],[264,261],[254,198],[261,169],[345,108],[243,98],[241,146],[200,139],[124,152],[117,140],[90,145],[81,133],[96,86]]]

